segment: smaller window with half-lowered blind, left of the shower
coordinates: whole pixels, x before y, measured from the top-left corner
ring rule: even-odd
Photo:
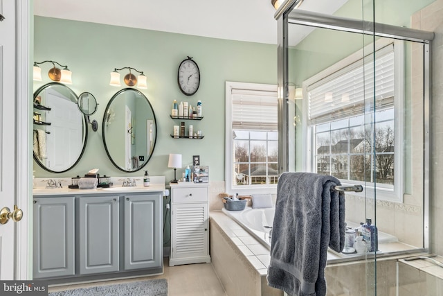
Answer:
[[[277,86],[226,82],[226,191],[276,192]]]

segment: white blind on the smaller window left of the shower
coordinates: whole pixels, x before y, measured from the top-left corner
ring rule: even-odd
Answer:
[[[277,130],[277,92],[232,89],[232,127]]]

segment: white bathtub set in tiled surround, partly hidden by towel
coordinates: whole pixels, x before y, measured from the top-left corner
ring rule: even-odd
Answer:
[[[253,209],[252,207],[246,207],[243,211],[228,211],[226,209],[221,209],[221,211],[231,219],[235,220],[235,222],[241,225],[249,234],[251,234],[251,236],[267,247],[268,250],[271,250],[271,237],[269,236],[269,233],[271,232],[273,225],[275,208]],[[359,225],[357,223],[347,222],[347,226],[358,227]],[[397,237],[384,232],[378,232],[378,238],[379,249],[383,249],[383,245],[398,241]],[[383,250],[379,250],[377,253],[383,253]],[[353,258],[361,255],[362,254],[356,253],[343,254],[329,249],[327,252],[327,260]]]

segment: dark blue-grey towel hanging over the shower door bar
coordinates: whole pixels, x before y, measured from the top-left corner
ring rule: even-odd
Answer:
[[[289,295],[325,296],[327,248],[345,244],[345,195],[329,175],[283,173],[278,180],[268,285]]]

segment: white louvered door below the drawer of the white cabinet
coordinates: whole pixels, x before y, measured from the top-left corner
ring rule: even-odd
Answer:
[[[207,203],[172,204],[172,259],[207,260],[208,233]]]

